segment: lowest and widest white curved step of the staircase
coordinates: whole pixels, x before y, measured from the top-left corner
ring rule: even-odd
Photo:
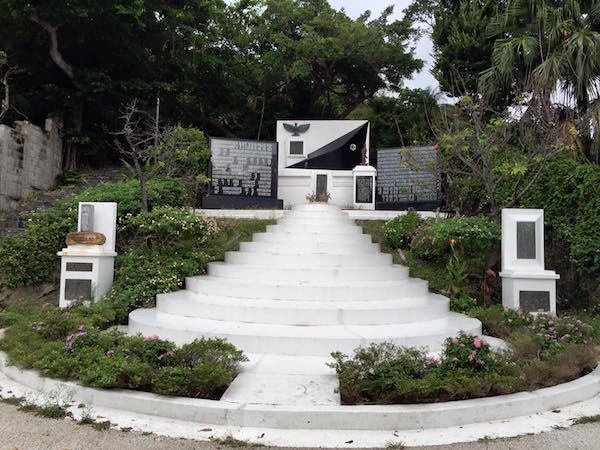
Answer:
[[[460,331],[481,333],[481,323],[450,313],[437,320],[390,325],[292,326],[219,321],[138,309],[129,315],[129,332],[158,335],[178,345],[200,337],[225,338],[247,353],[326,356],[351,353],[370,343],[393,342],[408,347],[441,348],[444,339]]]

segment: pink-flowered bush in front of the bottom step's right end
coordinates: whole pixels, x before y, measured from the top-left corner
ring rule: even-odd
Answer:
[[[495,362],[485,339],[461,332],[458,336],[446,339],[442,367],[446,370],[490,371],[495,369]]]

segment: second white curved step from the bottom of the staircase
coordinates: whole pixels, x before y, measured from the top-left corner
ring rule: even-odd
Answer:
[[[157,310],[183,317],[278,325],[383,325],[439,319],[448,299],[419,298],[361,302],[307,302],[199,295],[181,290],[157,296]]]

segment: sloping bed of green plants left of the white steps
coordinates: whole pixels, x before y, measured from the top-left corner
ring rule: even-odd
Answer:
[[[159,189],[163,186],[164,193]],[[218,399],[245,360],[241,351],[219,339],[202,339],[177,348],[156,336],[126,336],[115,325],[127,323],[133,309],[153,307],[157,294],[181,289],[185,277],[203,273],[209,261],[222,260],[225,252],[236,250],[241,240],[249,240],[252,233],[264,231],[272,222],[216,221],[192,214],[180,206],[185,190],[173,180],[151,180],[153,207],[141,212],[138,189],[134,181],[126,181],[85,193],[86,200],[114,199],[119,203],[119,255],[113,288],[106,298],[66,309],[49,303],[0,306],[0,328],[6,328],[0,349],[10,363],[38,369],[44,376],[99,388]],[[51,251],[52,257],[46,253],[44,257],[54,268],[53,246],[60,248],[64,234],[75,228],[79,199],[32,214],[36,228],[0,242],[0,252],[18,243],[22,250],[14,255],[14,264],[33,271],[38,262],[32,261],[27,248],[35,245],[40,235],[52,236],[44,250]],[[53,219],[63,216],[64,222],[54,228]],[[48,270],[44,281],[54,276]],[[17,271],[10,269],[7,279],[7,286],[34,281],[18,278]]]

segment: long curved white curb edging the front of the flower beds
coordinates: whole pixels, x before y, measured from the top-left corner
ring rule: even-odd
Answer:
[[[102,390],[44,378],[35,370],[6,365],[0,371],[42,393],[70,392],[74,402],[194,423],[305,430],[422,430],[505,420],[550,411],[600,393],[600,368],[568,383],[532,392],[414,405],[284,406],[168,397],[130,390]]]

